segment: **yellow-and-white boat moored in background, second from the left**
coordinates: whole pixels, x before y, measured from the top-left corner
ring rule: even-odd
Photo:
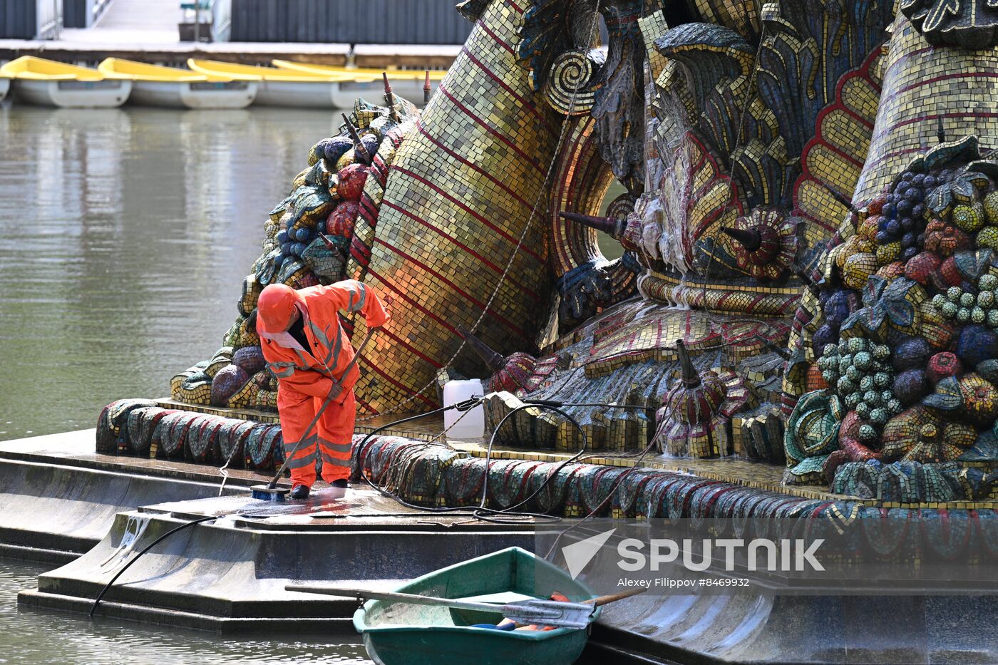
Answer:
[[[245,109],[256,98],[258,86],[248,77],[206,75],[122,58],[107,58],[98,70],[131,80],[132,101],[146,106]]]

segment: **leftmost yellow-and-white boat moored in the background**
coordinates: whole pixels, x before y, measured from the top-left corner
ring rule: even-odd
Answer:
[[[13,79],[22,102],[67,109],[114,108],[132,92],[127,78],[34,56],[11,60],[0,67],[0,77]]]

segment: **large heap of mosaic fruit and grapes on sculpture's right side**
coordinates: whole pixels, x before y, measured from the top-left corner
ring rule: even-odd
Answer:
[[[790,415],[786,481],[979,459],[998,417],[998,163],[975,137],[941,143],[852,222],[827,254],[811,335],[809,388],[825,397]],[[825,411],[837,445],[808,447],[828,436]]]

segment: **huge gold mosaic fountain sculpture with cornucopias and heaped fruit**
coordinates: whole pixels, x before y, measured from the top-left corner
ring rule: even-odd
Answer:
[[[362,416],[492,374],[492,423],[528,394],[618,405],[566,407],[593,449],[990,500],[998,15],[944,4],[460,3],[475,27],[439,92],[358,101],[312,148],[239,320],[174,398],[273,409],[255,297],[352,278],[392,310]],[[596,217],[614,178],[627,193]],[[557,413],[511,419],[507,443],[581,445]]]

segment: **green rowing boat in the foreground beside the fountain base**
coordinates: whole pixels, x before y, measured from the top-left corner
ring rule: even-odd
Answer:
[[[510,547],[441,568],[394,589],[400,593],[501,605],[562,593],[579,602],[592,590],[554,564]],[[594,620],[601,608],[594,612]],[[570,665],[582,654],[589,630],[503,631],[499,612],[368,600],[353,615],[367,654],[378,665]]]

